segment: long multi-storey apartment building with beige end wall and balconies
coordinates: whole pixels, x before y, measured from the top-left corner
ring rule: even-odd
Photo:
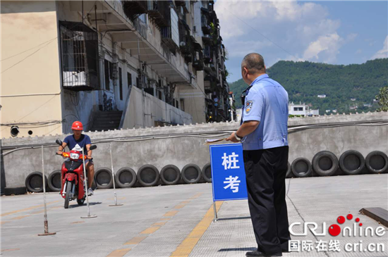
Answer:
[[[1,137],[229,119],[213,5],[1,1]]]

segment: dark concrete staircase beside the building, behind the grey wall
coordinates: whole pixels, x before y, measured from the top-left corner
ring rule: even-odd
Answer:
[[[93,113],[93,125],[90,131],[107,131],[119,129],[123,111],[97,111]]]

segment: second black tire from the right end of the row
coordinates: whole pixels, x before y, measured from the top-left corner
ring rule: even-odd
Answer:
[[[345,151],[339,157],[339,167],[346,175],[358,175],[365,167],[365,158],[359,151]]]

